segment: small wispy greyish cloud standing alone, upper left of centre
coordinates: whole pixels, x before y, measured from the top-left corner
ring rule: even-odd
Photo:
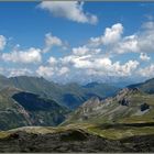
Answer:
[[[48,52],[53,46],[62,46],[63,42],[57,36],[53,36],[52,33],[47,33],[45,35],[45,48],[43,53]]]

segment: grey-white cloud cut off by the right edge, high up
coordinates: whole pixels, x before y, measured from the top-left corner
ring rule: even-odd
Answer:
[[[154,52],[154,22],[145,22],[142,29],[130,36],[124,36],[114,47],[119,54]]]

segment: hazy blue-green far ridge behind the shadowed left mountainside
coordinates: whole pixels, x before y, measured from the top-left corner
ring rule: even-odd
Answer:
[[[81,86],[76,82],[59,85],[48,81],[43,77],[19,76],[7,78],[0,76],[0,89],[4,87],[15,87],[23,91],[53,99],[69,109],[77,108],[91,96],[106,98],[114,95],[119,90],[119,87],[108,84],[97,84],[88,87],[88,85]]]

